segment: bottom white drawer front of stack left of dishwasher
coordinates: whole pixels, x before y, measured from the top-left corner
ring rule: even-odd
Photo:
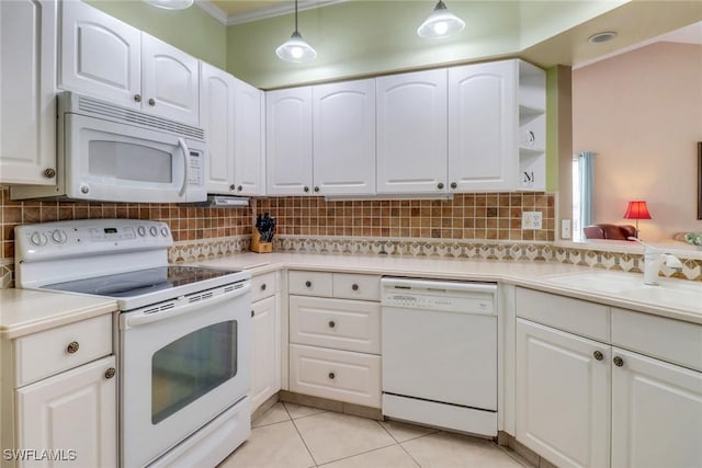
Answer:
[[[381,356],[291,344],[290,389],[381,408]]]

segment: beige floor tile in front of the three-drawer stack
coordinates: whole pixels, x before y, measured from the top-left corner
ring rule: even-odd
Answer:
[[[339,413],[321,413],[294,420],[318,464],[347,458],[395,444],[376,421]]]

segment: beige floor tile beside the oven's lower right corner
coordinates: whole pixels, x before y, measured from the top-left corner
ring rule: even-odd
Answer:
[[[251,430],[251,436],[218,468],[307,468],[314,467],[305,444],[292,421]]]

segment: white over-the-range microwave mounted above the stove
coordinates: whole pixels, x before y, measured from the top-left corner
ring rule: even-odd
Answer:
[[[206,199],[204,142],[64,114],[66,195],[104,202]]]

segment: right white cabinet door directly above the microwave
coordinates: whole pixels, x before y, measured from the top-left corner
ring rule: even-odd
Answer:
[[[196,58],[141,33],[144,111],[199,125],[199,78]]]

